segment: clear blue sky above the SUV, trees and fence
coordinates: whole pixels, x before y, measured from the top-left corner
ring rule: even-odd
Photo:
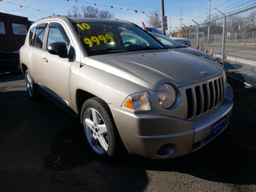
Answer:
[[[161,0],[78,0],[78,6],[95,6],[98,10],[108,10],[114,14],[115,18],[125,19],[142,26],[142,22],[146,23],[147,13],[154,10],[159,10],[162,13],[161,2]],[[164,0],[164,3],[168,27],[171,26],[171,30],[175,30],[175,26],[180,27],[181,6],[182,24],[184,23],[186,26],[194,25],[191,19],[200,23],[208,17],[209,0]],[[211,0],[211,14],[217,13],[214,8],[225,13],[235,7],[246,5],[246,3],[255,3],[255,1]],[[0,12],[20,15],[29,18],[30,21],[36,21],[52,14],[65,15],[74,5],[76,5],[74,0],[0,0]],[[114,8],[110,6],[114,6]],[[138,13],[135,13],[134,10],[138,10]],[[143,14],[142,11],[146,14]],[[146,26],[148,26],[147,23]]]

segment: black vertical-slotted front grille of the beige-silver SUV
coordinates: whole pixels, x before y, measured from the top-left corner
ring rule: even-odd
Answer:
[[[186,89],[187,119],[207,114],[222,103],[225,85],[223,78],[214,78]]]

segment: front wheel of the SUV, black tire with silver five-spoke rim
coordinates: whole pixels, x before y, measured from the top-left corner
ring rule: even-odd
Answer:
[[[118,134],[106,102],[88,99],[82,105],[80,119],[92,153],[104,160],[114,158]]]

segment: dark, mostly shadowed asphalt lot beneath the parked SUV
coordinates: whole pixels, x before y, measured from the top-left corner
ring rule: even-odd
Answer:
[[[201,150],[100,162],[76,118],[43,96],[30,101],[22,75],[0,74],[0,191],[256,191],[256,90],[228,80],[230,125]]]

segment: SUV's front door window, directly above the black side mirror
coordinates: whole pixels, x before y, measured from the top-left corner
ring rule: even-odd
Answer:
[[[62,26],[59,24],[50,24],[46,49],[53,42],[70,42]]]

